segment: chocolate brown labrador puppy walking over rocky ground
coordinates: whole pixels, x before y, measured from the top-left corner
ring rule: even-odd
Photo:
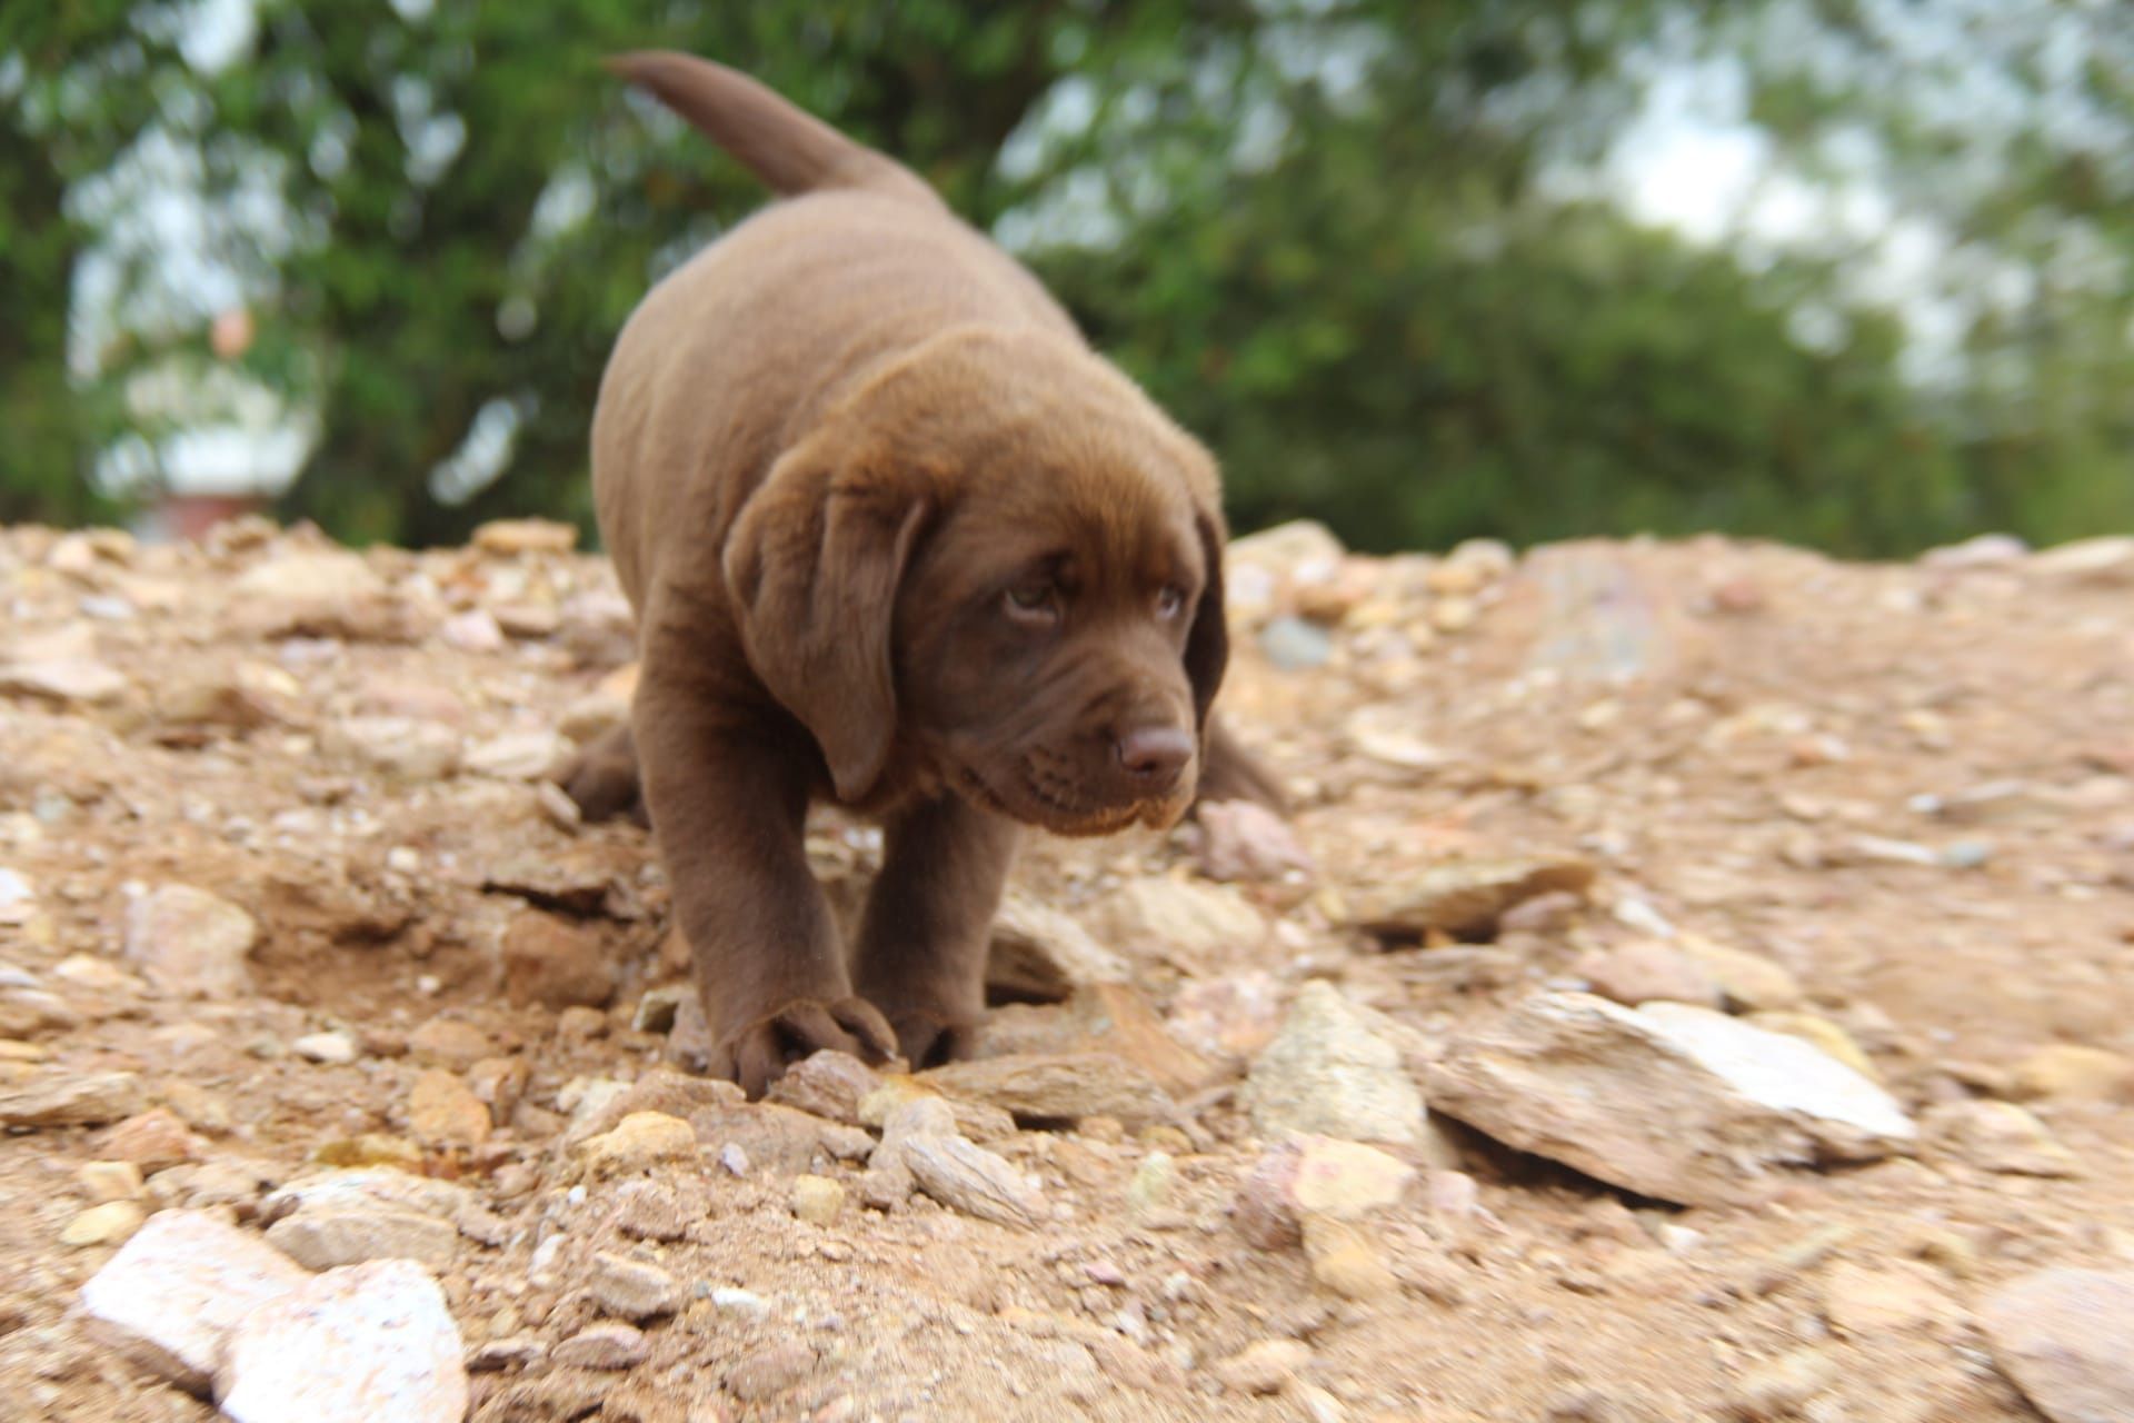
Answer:
[[[1216,465],[907,169],[719,64],[612,68],[785,201],[617,339],[593,491],[642,672],[568,785],[589,815],[642,787],[715,1071],[926,1067],[984,1009],[1018,826],[1272,800],[1208,732]],[[886,828],[849,960],[802,851],[824,796]]]

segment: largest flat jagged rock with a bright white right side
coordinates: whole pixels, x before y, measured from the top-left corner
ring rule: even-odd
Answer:
[[[1750,1201],[1767,1167],[1910,1146],[1897,1101],[1812,1043],[1684,1003],[1536,994],[1451,1045],[1434,1109],[1615,1186]]]

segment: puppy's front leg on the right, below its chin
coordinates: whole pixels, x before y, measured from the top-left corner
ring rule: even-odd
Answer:
[[[913,806],[886,830],[856,977],[913,1071],[969,1052],[986,1011],[986,945],[1016,834],[1014,821],[960,796]]]

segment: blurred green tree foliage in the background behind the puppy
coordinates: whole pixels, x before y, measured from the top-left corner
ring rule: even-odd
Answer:
[[[316,427],[286,514],[416,544],[506,512],[587,521],[615,331],[762,201],[598,68],[659,45],[749,68],[1018,245],[1223,457],[1240,527],[1312,514],[1379,548],[1720,527],[1882,553],[2134,523],[2125,311],[2093,288],[1980,309],[1976,363],[1929,388],[1842,254],[1743,262],[1549,181],[1598,156],[1635,60],[1684,23],[1724,49],[1786,13],[1850,68],[1758,62],[1758,122],[1797,154],[1850,122],[1899,175],[1953,162],[1891,100],[1874,9],[258,0],[250,41],[203,60],[181,4],[11,6],[0,516],[94,512],[94,452],[154,433],[143,373],[228,373],[209,294],[143,301],[154,245],[122,265],[126,320],[68,367],[81,256],[124,220],[83,194],[156,141],[220,213],[258,331],[237,369]],[[2125,73],[2093,77],[2100,111],[2134,113]],[[2128,256],[2123,173],[2010,143],[1942,220],[2027,271],[2051,254],[2008,237],[2038,211]],[[1833,316],[1805,333],[1801,311]],[[455,486],[476,454],[501,474]]]

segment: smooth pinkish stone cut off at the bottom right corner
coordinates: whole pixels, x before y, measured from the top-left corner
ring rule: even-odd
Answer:
[[[2040,1269],[1978,1314],[1993,1361],[2047,1419],[2134,1419],[2134,1272]]]

